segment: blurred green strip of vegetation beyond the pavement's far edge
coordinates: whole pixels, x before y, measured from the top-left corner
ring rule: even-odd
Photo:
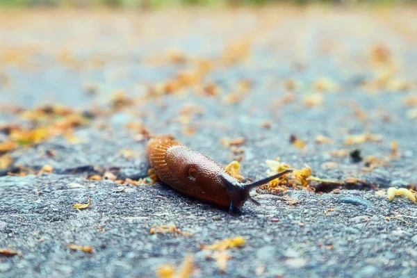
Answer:
[[[113,8],[158,8],[167,6],[201,5],[226,6],[264,3],[336,3],[398,4],[417,3],[417,0],[0,0],[0,6],[10,7],[113,7]]]

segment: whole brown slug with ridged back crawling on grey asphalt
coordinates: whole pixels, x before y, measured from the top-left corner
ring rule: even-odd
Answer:
[[[152,138],[147,145],[149,163],[163,183],[184,195],[237,211],[250,197],[250,190],[293,172],[285,170],[259,181],[240,183],[220,164],[170,137]]]

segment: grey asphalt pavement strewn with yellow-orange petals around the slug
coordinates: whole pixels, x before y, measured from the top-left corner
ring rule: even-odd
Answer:
[[[417,204],[386,195],[417,183],[415,8],[0,18],[1,277],[170,277],[187,256],[177,277],[417,277]],[[247,181],[279,158],[331,182],[228,213],[149,184],[156,134]]]

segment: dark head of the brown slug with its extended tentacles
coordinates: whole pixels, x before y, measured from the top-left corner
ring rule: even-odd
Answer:
[[[274,174],[270,177],[260,179],[259,181],[254,181],[252,183],[240,183],[236,181],[236,179],[231,178],[229,174],[219,174],[218,177],[222,180],[224,186],[226,186],[227,193],[229,194],[231,200],[229,211],[236,211],[238,208],[240,208],[240,206],[243,206],[246,201],[250,201],[260,206],[261,204],[259,204],[258,201],[250,197],[250,190],[273,181],[274,179],[278,179],[279,177],[282,177],[285,174],[289,174],[291,172],[293,172],[291,169],[284,170],[278,174]]]

